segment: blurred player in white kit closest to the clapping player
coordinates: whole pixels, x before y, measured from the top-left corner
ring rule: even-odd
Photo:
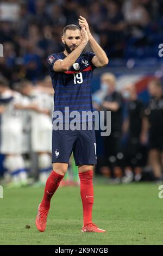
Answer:
[[[40,92],[30,81],[21,82],[21,93],[30,98],[30,104],[20,109],[31,110],[31,146],[32,152],[37,153],[39,168],[39,182],[36,185],[45,185],[51,163],[52,144],[52,112],[53,97],[44,92]]]

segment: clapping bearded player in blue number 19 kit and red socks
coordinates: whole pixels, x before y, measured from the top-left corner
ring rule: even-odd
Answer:
[[[67,25],[64,28],[62,42],[64,52],[54,53],[47,63],[52,78],[55,111],[64,112],[68,106],[71,111],[92,111],[91,80],[95,68],[108,64],[108,58],[90,33],[84,17],[79,17],[80,28]],[[87,42],[92,52],[83,52]],[[83,232],[103,233],[92,223],[93,206],[93,164],[96,164],[95,130],[72,131],[54,130],[52,137],[53,171],[47,179],[45,193],[36,216],[36,227],[45,231],[47,215],[53,194],[67,171],[68,162],[73,151],[74,160],[79,170],[80,194],[83,203]]]

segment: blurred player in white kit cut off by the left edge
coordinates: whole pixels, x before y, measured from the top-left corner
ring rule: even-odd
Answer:
[[[10,176],[9,187],[27,185],[27,172],[22,157],[23,120],[22,111],[16,104],[23,105],[20,93],[9,89],[8,81],[0,77],[1,104],[1,154],[5,155],[4,167]]]

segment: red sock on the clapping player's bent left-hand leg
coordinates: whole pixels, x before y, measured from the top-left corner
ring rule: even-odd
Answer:
[[[45,191],[40,206],[46,209],[50,209],[51,198],[53,197],[53,194],[59,187],[62,178],[64,178],[64,175],[55,173],[54,170],[52,171],[52,173],[49,175],[49,178],[46,181]]]

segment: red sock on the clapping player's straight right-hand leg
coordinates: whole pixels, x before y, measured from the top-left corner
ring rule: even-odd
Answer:
[[[83,203],[83,224],[92,222],[93,208],[93,170],[79,173],[80,195]]]

